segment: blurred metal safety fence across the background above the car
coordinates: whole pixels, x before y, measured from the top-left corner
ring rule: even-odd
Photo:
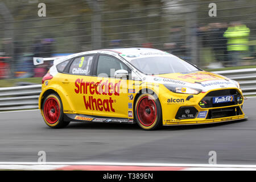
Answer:
[[[152,47],[209,69],[256,64],[255,0],[43,2],[0,2],[0,78],[42,77],[49,65],[32,57],[99,48]],[[243,33],[236,49],[229,28]]]

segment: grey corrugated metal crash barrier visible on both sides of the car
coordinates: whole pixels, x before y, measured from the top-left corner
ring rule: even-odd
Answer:
[[[245,96],[256,94],[256,68],[214,72],[237,80]],[[0,88],[0,111],[38,109],[41,85]]]

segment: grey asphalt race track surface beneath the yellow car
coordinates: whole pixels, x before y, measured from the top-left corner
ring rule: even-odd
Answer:
[[[135,162],[256,164],[256,98],[243,110],[247,121],[169,126],[144,131],[137,125],[70,123],[51,129],[39,110],[0,113],[0,162]]]

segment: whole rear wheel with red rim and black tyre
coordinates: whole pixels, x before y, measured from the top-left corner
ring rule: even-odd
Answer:
[[[49,94],[43,102],[42,113],[46,125],[53,128],[68,126],[69,122],[64,122],[63,106],[60,97],[56,94]]]

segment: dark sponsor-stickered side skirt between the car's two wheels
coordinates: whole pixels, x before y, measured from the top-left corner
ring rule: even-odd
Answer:
[[[135,123],[134,119],[127,118],[102,118],[84,114],[65,114],[64,121],[71,122],[101,122],[101,123]]]

